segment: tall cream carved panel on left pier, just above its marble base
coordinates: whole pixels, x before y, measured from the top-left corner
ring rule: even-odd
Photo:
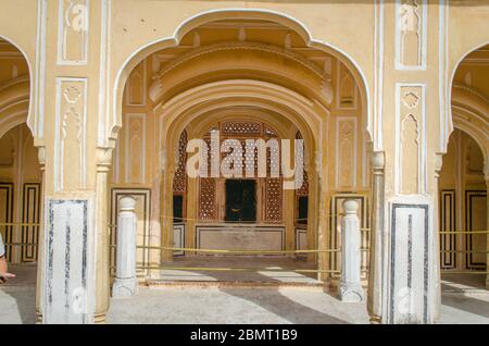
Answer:
[[[57,78],[55,191],[86,188],[87,88],[87,78]],[[66,172],[72,173],[65,174]]]

